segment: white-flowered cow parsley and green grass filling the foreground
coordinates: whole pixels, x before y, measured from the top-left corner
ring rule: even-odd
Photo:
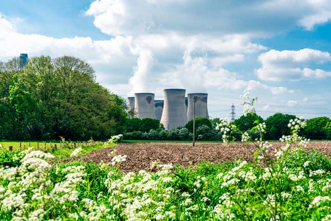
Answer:
[[[274,220],[275,205],[282,220],[331,218],[331,161],[316,151],[299,149],[275,162],[284,171],[276,198],[272,171],[246,161],[195,169],[152,162],[154,172],[122,173],[116,165],[125,156],[109,164],[51,165],[52,158],[41,151],[0,155],[2,219]]]

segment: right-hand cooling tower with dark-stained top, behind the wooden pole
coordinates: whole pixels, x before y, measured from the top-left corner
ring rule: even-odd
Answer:
[[[187,105],[187,119],[193,119],[193,103],[194,96],[197,97],[196,100],[196,117],[205,117],[208,116],[208,106],[207,106],[207,98],[208,94],[196,93],[196,94],[187,94],[188,97],[188,105]]]

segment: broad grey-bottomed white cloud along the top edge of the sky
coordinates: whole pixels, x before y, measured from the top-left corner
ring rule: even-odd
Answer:
[[[96,0],[86,11],[104,33],[116,35],[180,32],[246,32],[268,35],[301,25],[307,29],[330,19],[327,0],[154,1]],[[281,15],[281,16],[280,16]]]

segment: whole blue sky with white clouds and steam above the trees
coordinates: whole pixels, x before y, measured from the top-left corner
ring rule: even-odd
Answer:
[[[123,97],[207,92],[211,117],[239,95],[258,114],[331,117],[330,0],[1,1],[0,60],[26,52],[80,57]]]

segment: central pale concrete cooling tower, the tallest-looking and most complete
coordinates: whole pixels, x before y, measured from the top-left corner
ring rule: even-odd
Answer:
[[[165,130],[184,126],[187,123],[185,89],[164,89],[164,106],[161,123]]]

